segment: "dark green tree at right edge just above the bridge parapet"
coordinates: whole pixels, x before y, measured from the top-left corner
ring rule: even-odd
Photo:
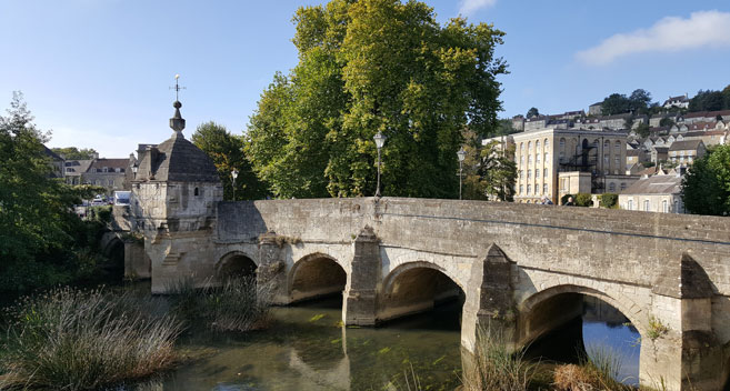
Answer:
[[[693,214],[730,213],[730,146],[709,148],[682,179],[682,202]]]

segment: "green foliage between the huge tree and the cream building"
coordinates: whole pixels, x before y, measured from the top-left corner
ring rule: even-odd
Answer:
[[[512,201],[517,164],[514,163],[514,146],[506,151],[499,142],[481,144],[480,138],[473,132],[464,132],[467,157],[463,161],[463,198],[467,200],[501,200]]]

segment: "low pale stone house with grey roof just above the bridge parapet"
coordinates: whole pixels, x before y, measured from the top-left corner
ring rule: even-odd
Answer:
[[[644,177],[619,193],[619,208],[659,213],[684,213],[682,178],[678,174]]]

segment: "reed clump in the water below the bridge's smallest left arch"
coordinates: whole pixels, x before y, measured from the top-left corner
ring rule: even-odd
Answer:
[[[174,313],[214,331],[259,330],[269,321],[271,285],[257,283],[256,277],[228,279],[220,287],[207,282],[202,288],[188,278],[168,288]]]

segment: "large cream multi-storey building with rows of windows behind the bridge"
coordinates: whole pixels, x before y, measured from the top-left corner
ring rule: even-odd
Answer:
[[[568,193],[618,192],[621,183],[626,188],[634,180],[624,176],[623,132],[540,129],[511,137],[518,172],[516,202],[534,203],[548,198],[558,203]]]

